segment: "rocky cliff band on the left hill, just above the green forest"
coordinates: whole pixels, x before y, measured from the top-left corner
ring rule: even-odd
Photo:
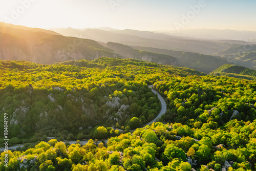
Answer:
[[[24,53],[18,47],[0,47],[0,60],[26,60],[45,65],[68,60],[94,60],[102,56],[119,57],[115,53],[100,50],[87,53],[76,50],[69,51],[66,48],[55,49],[52,44],[36,44],[28,53]]]

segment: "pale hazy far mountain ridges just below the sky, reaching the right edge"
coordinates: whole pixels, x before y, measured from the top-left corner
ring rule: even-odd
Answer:
[[[58,33],[65,36],[77,36],[81,38],[89,38],[96,41],[102,42],[118,42],[120,44],[129,45],[129,46],[143,46],[143,47],[153,47],[160,49],[169,49],[169,50],[178,50],[178,51],[187,51],[195,53],[203,53],[208,55],[217,55],[218,52],[224,51],[232,46],[236,45],[247,45],[253,44],[253,40],[250,38],[247,41],[235,39],[230,39],[232,36],[222,36],[228,35],[229,30],[209,30],[209,34],[218,35],[215,36],[205,36],[194,37],[193,34],[176,34],[176,33],[167,33],[167,32],[150,32],[150,31],[138,31],[138,30],[116,30],[112,28],[98,28],[98,29],[73,29],[67,28],[62,29],[52,29]],[[207,31],[206,29],[193,30],[193,33],[198,31],[197,35],[200,35],[201,32]],[[192,31],[191,31],[192,32]],[[236,33],[241,33],[240,37],[246,35],[247,37],[251,35],[254,36],[256,32],[239,32],[230,30],[231,35],[236,35]],[[196,35],[196,34],[195,34]],[[256,34],[255,34],[256,35]],[[245,36],[245,37],[246,37]],[[214,37],[214,38],[212,38]],[[255,36],[256,39],[256,36]]]

